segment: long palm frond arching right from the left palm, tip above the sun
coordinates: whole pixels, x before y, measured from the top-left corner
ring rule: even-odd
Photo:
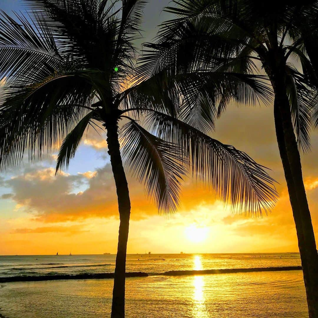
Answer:
[[[244,152],[203,134],[167,114],[149,111],[148,124],[160,138],[176,143],[190,156],[193,174],[211,185],[223,202],[238,211],[262,214],[273,207],[275,181]]]

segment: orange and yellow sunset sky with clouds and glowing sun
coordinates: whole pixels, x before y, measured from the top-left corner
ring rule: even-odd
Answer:
[[[169,16],[168,0],[152,1],[142,28],[144,41]],[[18,1],[0,0],[9,12]],[[128,176],[131,222],[128,253],[296,252],[297,238],[279,157],[273,107],[232,105],[217,122],[213,137],[245,151],[272,169],[280,194],[272,213],[263,218],[232,214],[213,193],[191,178],[183,186],[174,215],[158,215],[143,185]],[[55,176],[56,152],[32,165],[3,171],[0,177],[0,254],[116,253],[118,209],[105,134],[88,131],[70,168]],[[302,155],[309,207],[318,237],[318,134],[312,151]]]

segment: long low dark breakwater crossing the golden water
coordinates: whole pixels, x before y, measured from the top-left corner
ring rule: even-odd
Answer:
[[[207,270],[188,270],[188,271],[168,271],[163,273],[126,273],[126,277],[148,277],[148,276],[194,276],[211,274],[229,273],[252,273],[252,272],[277,272],[302,270],[301,266],[280,266],[280,267],[254,267],[254,268],[228,268],[228,269],[207,269]],[[83,279],[112,279],[114,273],[91,273],[91,274],[61,274],[61,275],[42,275],[42,276],[11,276],[0,277],[0,283],[24,282],[24,281],[45,281],[45,280],[83,280]],[[2,318],[0,316],[0,318]]]

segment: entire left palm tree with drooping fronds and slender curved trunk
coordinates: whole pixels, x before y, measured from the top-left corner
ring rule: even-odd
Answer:
[[[183,88],[193,86],[194,78],[203,84],[195,74],[138,75],[134,41],[140,37],[145,1],[24,1],[27,16],[13,19],[2,12],[0,18],[0,73],[6,78],[0,164],[18,164],[26,153],[32,161],[60,145],[58,172],[68,167],[86,129],[103,126],[120,217],[111,317],[124,317],[131,206],[120,140],[126,166],[164,213],[176,211],[181,182],[190,170],[223,201],[252,213],[271,209],[274,181],[245,153],[204,134],[205,123],[211,126],[214,120],[208,108],[191,111],[194,98],[205,104],[235,76],[211,73],[215,90],[194,96]],[[267,89],[258,79],[242,81],[252,99]]]

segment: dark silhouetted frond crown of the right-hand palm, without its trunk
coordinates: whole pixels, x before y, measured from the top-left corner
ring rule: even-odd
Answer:
[[[310,149],[309,132],[318,126],[318,2],[253,0],[176,0],[165,10],[177,18],[165,22],[157,43],[148,44],[148,70],[196,72],[210,81],[210,73],[232,74],[218,95],[217,116],[231,100],[255,104],[246,79],[273,83],[271,70],[284,73],[297,142]],[[265,69],[266,76],[261,69]],[[244,74],[244,75],[243,75]],[[268,75],[268,76],[267,76]],[[250,77],[248,77],[250,76]],[[244,81],[242,79],[245,79]],[[213,85],[209,83],[209,89]],[[268,88],[257,96],[271,99]],[[273,87],[275,90],[275,87]],[[213,99],[212,99],[213,101]]]

